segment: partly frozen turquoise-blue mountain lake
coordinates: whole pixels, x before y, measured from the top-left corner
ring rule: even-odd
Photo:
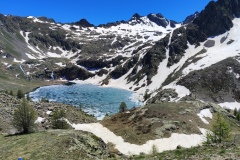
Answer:
[[[92,84],[44,86],[29,93],[33,101],[46,98],[49,101],[81,107],[99,120],[106,114],[117,113],[121,102],[125,102],[129,109],[140,106],[142,103],[134,99],[133,94],[134,92],[127,90]]]

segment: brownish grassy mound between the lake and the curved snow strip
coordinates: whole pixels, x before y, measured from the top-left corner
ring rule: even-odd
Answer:
[[[127,142],[144,144],[171,133],[200,134],[198,127],[209,127],[197,116],[200,108],[186,102],[150,104],[106,117],[101,123]]]

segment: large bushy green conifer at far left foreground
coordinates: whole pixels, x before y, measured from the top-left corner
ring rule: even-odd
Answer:
[[[29,102],[23,98],[21,104],[16,108],[13,115],[13,126],[21,133],[29,133],[34,129],[36,111]]]

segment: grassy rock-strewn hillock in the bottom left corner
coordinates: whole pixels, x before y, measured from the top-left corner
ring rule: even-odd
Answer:
[[[96,136],[74,130],[51,130],[26,135],[0,135],[0,159],[95,159],[105,151]]]

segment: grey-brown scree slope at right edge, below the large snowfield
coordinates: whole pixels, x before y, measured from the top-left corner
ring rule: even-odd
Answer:
[[[178,84],[186,86],[204,101],[239,101],[239,68],[240,64],[235,58],[228,58],[204,70],[189,73]]]

